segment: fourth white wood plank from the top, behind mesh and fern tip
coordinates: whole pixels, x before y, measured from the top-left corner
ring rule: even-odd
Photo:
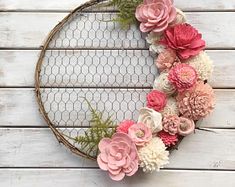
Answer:
[[[92,91],[92,90],[90,90]],[[114,108],[121,108],[121,111],[117,112],[118,117],[120,120],[123,120],[125,117],[128,116],[134,116],[133,119],[136,119],[138,116],[138,108],[143,106],[138,98],[143,98],[143,102],[145,94],[147,92],[142,90],[140,91],[134,91],[135,94],[133,95],[134,102],[130,102],[128,106],[126,106],[126,102],[123,101],[124,95],[125,98],[129,99],[131,93],[134,93],[132,89],[129,89],[129,91],[123,89],[123,92],[120,92],[120,90],[112,90],[109,93],[104,92],[103,94],[107,94],[106,96],[102,97],[102,100],[100,100],[100,94],[96,92],[94,94],[95,98],[93,98],[93,102],[98,103],[99,109],[104,109],[104,99],[107,98],[115,98],[115,93],[118,93],[118,96],[112,101],[112,103],[116,103],[118,106],[115,106]],[[77,91],[79,92],[79,90]],[[86,91],[82,92],[85,93]],[[216,108],[214,112],[209,115],[208,117],[204,118],[202,121],[198,122],[198,125],[200,127],[209,127],[209,128],[234,128],[235,127],[235,104],[234,104],[234,97],[235,97],[235,91],[234,90],[215,90],[216,92]],[[77,94],[75,94],[77,97]],[[92,96],[91,92],[87,92],[87,97],[90,98]],[[34,96],[33,89],[1,89],[0,90],[0,125],[1,126],[47,126],[42,119],[40,113],[38,112],[38,105],[36,103],[36,99]],[[58,98],[60,98],[58,96]],[[95,100],[95,101],[94,101]],[[92,102],[92,103],[93,103]],[[70,103],[70,102],[67,102]],[[118,104],[118,103],[124,103]],[[135,104],[137,109],[135,108]],[[79,104],[77,104],[80,106]],[[52,105],[53,106],[53,105]],[[85,106],[85,105],[84,105]],[[62,103],[61,107],[65,107]],[[117,114],[113,112],[112,105],[110,103],[106,103],[105,105],[106,110],[109,111],[111,114]],[[125,107],[129,107],[128,109]],[[69,108],[68,108],[69,109]],[[54,108],[55,110],[55,108]],[[71,110],[71,109],[70,109]],[[77,111],[77,109],[75,110]],[[132,111],[132,112],[131,112]],[[78,112],[78,111],[77,111]],[[70,125],[74,125],[74,122],[76,122],[76,119],[78,116],[76,115],[77,112],[74,114],[74,120],[71,122],[67,122]],[[84,113],[81,111],[82,114],[79,113],[79,116],[81,119],[85,118]],[[61,114],[61,113],[60,113]],[[68,116],[68,114],[64,113]],[[51,114],[52,115],[52,114]],[[59,115],[60,116],[60,115]],[[60,117],[57,117],[60,119]],[[66,118],[66,117],[65,117]],[[56,119],[56,117],[55,117]],[[80,120],[81,121],[81,120]],[[85,123],[85,122],[84,122]],[[80,124],[80,123],[79,123]]]

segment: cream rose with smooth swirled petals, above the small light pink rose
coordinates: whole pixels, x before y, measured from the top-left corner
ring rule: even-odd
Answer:
[[[162,130],[162,114],[151,108],[141,108],[138,123],[145,124],[152,132],[159,132]]]

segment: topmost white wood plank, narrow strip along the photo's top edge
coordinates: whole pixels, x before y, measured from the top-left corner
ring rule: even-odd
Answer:
[[[0,1],[0,10],[3,11],[19,11],[19,10],[30,10],[30,11],[69,11],[78,6],[79,4],[86,2],[86,0],[8,0]],[[221,1],[221,0],[190,0],[190,6],[188,2],[184,0],[175,0],[175,6],[186,11],[208,11],[208,10],[234,10],[235,1]]]

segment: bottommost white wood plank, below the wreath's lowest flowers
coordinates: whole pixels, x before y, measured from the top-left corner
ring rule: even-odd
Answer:
[[[164,170],[159,173],[126,177],[114,182],[105,172],[97,169],[1,169],[0,179],[4,187],[234,187],[234,171]],[[208,180],[210,179],[210,180]]]

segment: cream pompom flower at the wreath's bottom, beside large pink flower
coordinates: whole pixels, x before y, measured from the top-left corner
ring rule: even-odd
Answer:
[[[138,155],[144,172],[158,171],[169,163],[169,152],[159,137],[154,137],[146,146],[140,148]]]

